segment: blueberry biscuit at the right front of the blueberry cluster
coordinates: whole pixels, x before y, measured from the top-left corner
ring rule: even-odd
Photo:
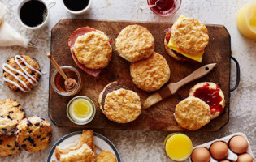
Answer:
[[[45,150],[52,138],[50,123],[40,117],[27,117],[19,122],[15,132],[16,141],[25,151]]]

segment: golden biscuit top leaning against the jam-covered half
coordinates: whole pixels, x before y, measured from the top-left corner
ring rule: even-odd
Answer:
[[[210,107],[201,99],[189,96],[176,105],[175,119],[185,129],[200,129],[210,122]]]

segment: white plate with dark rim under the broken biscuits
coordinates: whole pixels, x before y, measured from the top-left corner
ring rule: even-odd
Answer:
[[[79,134],[81,134],[82,131],[76,131],[71,134],[65,135],[62,139],[59,139],[57,143],[54,144],[54,147],[51,148],[47,162],[51,162],[52,160],[58,161],[55,156],[55,148],[56,146],[64,146],[69,143],[74,143],[78,140]],[[118,162],[121,162],[119,152],[115,148],[114,144],[111,143],[109,139],[106,139],[102,134],[93,133],[93,143],[96,147],[96,154],[98,155],[102,151],[111,151]]]

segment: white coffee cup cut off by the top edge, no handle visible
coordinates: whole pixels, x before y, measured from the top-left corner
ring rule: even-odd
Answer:
[[[76,15],[85,14],[89,11],[92,0],[62,0],[64,8]]]

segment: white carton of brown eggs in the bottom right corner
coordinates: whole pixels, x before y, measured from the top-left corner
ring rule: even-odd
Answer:
[[[254,156],[245,134],[231,134],[193,148],[190,162],[253,162]]]

